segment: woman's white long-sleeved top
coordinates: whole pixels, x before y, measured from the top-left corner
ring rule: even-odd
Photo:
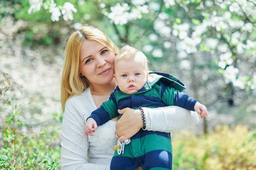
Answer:
[[[66,102],[61,134],[61,170],[109,170],[116,144],[116,122],[99,126],[93,136],[84,135],[84,125],[97,109],[90,88]],[[198,124],[196,112],[181,107],[143,108],[146,130],[174,132]]]

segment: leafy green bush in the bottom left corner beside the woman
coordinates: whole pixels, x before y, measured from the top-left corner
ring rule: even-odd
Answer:
[[[17,106],[12,81],[0,74],[0,112],[3,117],[0,148],[0,170],[56,170],[60,169],[61,147],[55,144],[59,130],[39,127],[38,133],[19,120],[22,106]],[[26,128],[26,133],[21,129]]]

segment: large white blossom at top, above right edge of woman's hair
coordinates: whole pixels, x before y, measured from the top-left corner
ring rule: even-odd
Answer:
[[[120,3],[116,3],[115,6],[111,6],[111,13],[108,14],[108,18],[111,19],[116,25],[128,23],[130,14],[128,10],[130,6],[127,3],[124,3],[122,6]]]

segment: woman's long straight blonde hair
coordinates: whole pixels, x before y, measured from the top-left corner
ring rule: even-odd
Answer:
[[[96,40],[118,54],[117,46],[102,31],[93,26],[84,26],[74,30],[65,48],[65,61],[61,77],[61,106],[64,112],[66,101],[74,95],[79,95],[90,85],[84,76],[79,75],[79,55],[84,40]]]

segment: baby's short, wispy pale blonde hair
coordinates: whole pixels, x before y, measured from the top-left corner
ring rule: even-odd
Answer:
[[[138,49],[135,49],[134,47],[131,47],[129,45],[125,45],[120,49],[119,54],[116,55],[116,58],[114,60],[114,65],[118,63],[118,61],[125,60],[125,61],[134,61],[135,58],[142,58],[143,61],[145,61],[146,69],[148,69],[148,58]]]

